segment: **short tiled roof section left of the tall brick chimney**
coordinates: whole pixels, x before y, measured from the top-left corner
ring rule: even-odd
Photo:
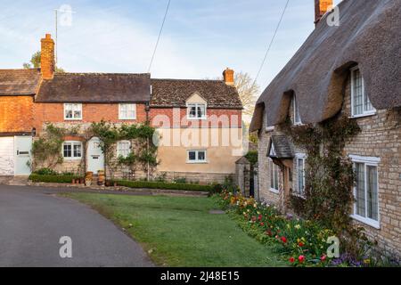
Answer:
[[[40,78],[40,69],[0,69],[0,96],[34,95]]]

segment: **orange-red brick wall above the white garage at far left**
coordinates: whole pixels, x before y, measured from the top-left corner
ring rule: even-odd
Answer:
[[[31,96],[0,96],[0,133],[30,132],[32,103]]]

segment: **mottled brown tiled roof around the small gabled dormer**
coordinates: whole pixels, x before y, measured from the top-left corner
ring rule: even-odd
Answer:
[[[151,79],[151,107],[185,107],[186,100],[198,93],[208,102],[208,108],[242,109],[235,87],[222,80]]]

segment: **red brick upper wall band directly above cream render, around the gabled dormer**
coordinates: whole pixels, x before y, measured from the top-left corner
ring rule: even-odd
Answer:
[[[151,125],[156,127],[163,126],[163,124],[166,123],[164,123],[164,121],[163,123],[160,123],[161,117],[159,115],[167,115],[168,124],[170,124],[169,126],[173,126],[173,118],[175,117],[174,127],[196,126],[194,124],[199,124],[198,126],[202,126],[201,124],[205,123],[207,123],[207,126],[209,127],[241,127],[241,110],[208,109],[206,121],[187,120],[186,112],[186,108],[152,108],[150,111]]]

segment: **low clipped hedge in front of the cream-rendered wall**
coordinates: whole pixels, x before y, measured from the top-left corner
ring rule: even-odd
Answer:
[[[127,180],[117,180],[115,182],[119,186],[124,186],[129,188],[149,188],[149,189],[163,189],[163,190],[208,191],[208,192],[212,190],[212,187],[209,185],[197,185],[197,184],[162,183],[162,182],[127,181]]]

